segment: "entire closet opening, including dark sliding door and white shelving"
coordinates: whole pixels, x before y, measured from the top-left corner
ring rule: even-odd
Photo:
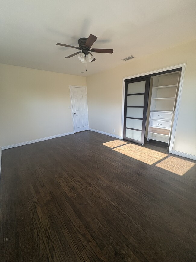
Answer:
[[[122,139],[144,144],[146,137],[147,141],[161,141],[169,146],[181,72],[182,67],[179,67],[124,80]],[[145,89],[142,88],[144,81]],[[140,98],[137,103],[136,98]]]

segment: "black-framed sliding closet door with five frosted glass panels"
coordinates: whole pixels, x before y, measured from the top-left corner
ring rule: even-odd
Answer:
[[[125,80],[123,139],[144,144],[150,77]]]

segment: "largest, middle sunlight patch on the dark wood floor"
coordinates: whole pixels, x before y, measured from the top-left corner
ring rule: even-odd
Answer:
[[[164,154],[135,144],[125,144],[121,147],[113,148],[113,150],[149,165],[152,165],[168,156],[168,154]]]

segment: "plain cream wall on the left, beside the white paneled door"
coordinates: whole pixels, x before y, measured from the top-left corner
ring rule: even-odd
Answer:
[[[72,132],[69,85],[86,78],[0,64],[0,145]]]

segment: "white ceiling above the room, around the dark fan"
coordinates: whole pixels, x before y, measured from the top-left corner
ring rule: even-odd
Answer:
[[[0,63],[84,76],[131,63],[140,57],[196,38],[195,0],[2,0],[0,4]],[[77,56],[77,40],[96,35],[85,64]]]

